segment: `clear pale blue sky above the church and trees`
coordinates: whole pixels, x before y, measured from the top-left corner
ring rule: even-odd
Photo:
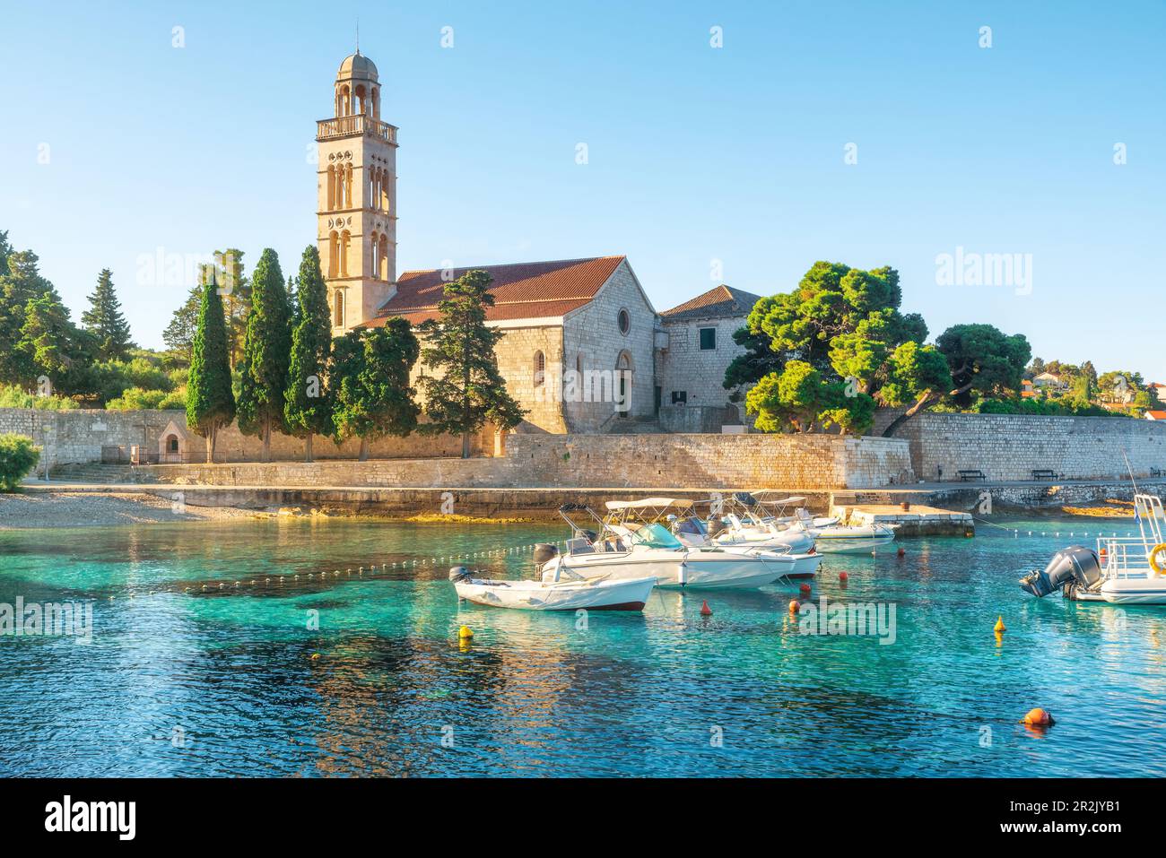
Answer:
[[[112,268],[149,346],[189,284],[139,284],[141,254],[238,246],[250,268],[271,246],[290,273],[357,15],[401,129],[399,270],[621,253],[666,309],[712,259],[761,294],[817,259],[891,265],[932,336],[990,322],[1166,381],[1160,0],[5,0],[0,230],[75,317]],[[939,286],[960,246],[1032,254],[1032,294]]]

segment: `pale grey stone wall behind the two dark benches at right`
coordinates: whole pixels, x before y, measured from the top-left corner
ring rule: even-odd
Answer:
[[[880,414],[876,431],[893,413]],[[899,427],[920,479],[958,479],[981,470],[991,480],[1028,480],[1033,469],[1066,479],[1124,479],[1166,470],[1166,424],[1129,417],[1042,417],[1009,414],[919,414]],[[1125,457],[1123,457],[1123,453]]]

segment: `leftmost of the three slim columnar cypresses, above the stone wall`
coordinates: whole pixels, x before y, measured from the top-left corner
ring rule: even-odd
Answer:
[[[204,269],[204,281],[187,380],[187,426],[206,438],[206,460],[213,463],[218,430],[234,420],[234,394],[226,319],[213,267]]]

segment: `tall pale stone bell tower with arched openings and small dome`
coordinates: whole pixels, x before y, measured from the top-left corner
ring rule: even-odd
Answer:
[[[316,122],[317,244],[332,336],[396,294],[396,128],[380,120],[373,62],[357,52],[336,73],[335,115]]]

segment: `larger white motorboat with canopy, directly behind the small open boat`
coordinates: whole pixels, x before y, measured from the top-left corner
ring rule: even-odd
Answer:
[[[649,498],[648,502],[660,499]],[[632,501],[640,504],[641,501]],[[614,506],[613,506],[614,505]],[[659,588],[742,590],[764,586],[788,578],[789,558],[760,549],[684,546],[659,522],[640,523],[619,518],[637,507],[611,501],[613,515],[602,520],[585,506],[568,504],[560,514],[571,526],[574,536],[567,548],[541,544],[535,560],[542,563],[542,579],[640,578],[652,576]],[[598,522],[600,533],[580,527],[569,513],[586,512]]]

